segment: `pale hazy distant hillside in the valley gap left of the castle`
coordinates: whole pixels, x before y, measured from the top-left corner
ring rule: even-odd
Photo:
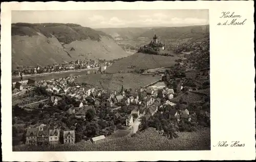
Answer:
[[[150,30],[149,28],[100,28],[96,29],[111,35],[116,40],[133,39]]]

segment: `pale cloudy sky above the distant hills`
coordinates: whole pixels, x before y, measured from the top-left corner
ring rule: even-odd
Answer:
[[[73,23],[90,28],[180,27],[209,24],[209,10],[12,11],[12,23]]]

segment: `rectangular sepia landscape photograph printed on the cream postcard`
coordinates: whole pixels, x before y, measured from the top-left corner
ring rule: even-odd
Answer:
[[[12,150],[211,150],[209,26],[208,9],[11,11]]]

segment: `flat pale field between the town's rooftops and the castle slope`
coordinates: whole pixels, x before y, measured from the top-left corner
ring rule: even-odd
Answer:
[[[159,81],[160,76],[148,76],[140,74],[90,74],[83,75],[75,80],[76,83],[87,83],[94,87],[120,91],[123,88],[137,89],[153,82]],[[101,83],[101,84],[100,84]]]

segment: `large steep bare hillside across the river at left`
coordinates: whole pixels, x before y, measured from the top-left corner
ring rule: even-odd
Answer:
[[[76,24],[12,24],[12,67],[129,56],[113,38]]]

